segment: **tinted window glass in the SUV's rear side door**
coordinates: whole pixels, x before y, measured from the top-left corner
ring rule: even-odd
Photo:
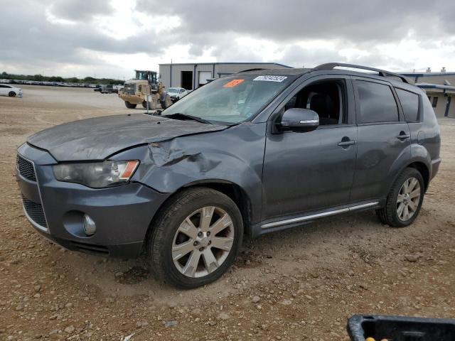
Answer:
[[[360,103],[359,123],[398,121],[398,108],[388,85],[356,81]]]

